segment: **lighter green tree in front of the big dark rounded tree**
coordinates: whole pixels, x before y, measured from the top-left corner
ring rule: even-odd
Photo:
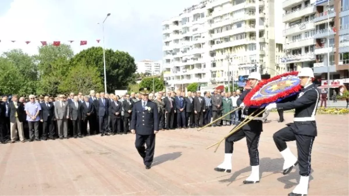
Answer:
[[[99,77],[96,67],[82,64],[70,68],[67,77],[58,87],[60,92],[82,92],[84,95],[87,95],[92,89],[96,92],[103,91],[102,79]]]

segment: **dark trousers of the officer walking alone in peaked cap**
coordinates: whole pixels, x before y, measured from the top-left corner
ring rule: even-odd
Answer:
[[[144,147],[144,143],[147,145],[147,149]],[[136,134],[135,141],[136,149],[139,155],[143,158],[144,165],[151,164],[154,159],[155,151],[155,134],[152,135],[139,135]]]

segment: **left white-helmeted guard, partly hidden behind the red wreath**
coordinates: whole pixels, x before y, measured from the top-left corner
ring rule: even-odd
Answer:
[[[252,72],[248,76],[248,80],[250,81],[251,88],[257,86],[258,82],[261,81],[261,75],[257,72]],[[243,91],[242,95],[237,100],[238,106],[244,106],[243,100],[248,92],[251,89]],[[251,108],[251,107],[243,107],[242,111],[242,120],[248,118],[253,112],[258,114],[264,108]],[[252,117],[250,117],[252,118]],[[224,161],[221,165],[218,165],[215,168],[215,171],[218,172],[231,172],[232,165],[232,153],[233,153],[233,144],[246,137],[248,154],[250,155],[250,165],[252,166],[251,175],[243,182],[244,184],[251,184],[259,182],[259,152],[258,152],[258,143],[259,137],[262,130],[262,114],[258,117],[255,117],[253,120],[244,125],[240,130],[236,131],[230,137],[225,139],[225,154]]]

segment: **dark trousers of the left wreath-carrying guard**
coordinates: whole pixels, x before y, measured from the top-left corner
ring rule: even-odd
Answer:
[[[244,129],[236,131],[230,137],[225,139],[225,153],[233,153],[234,142],[237,142],[246,137],[248,154],[250,155],[250,165],[259,165],[258,143],[260,135],[260,131],[250,131]]]

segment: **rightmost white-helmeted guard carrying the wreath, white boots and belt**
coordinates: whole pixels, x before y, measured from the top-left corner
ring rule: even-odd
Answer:
[[[315,113],[320,98],[319,90],[312,83],[314,73],[311,68],[303,68],[298,73],[298,77],[300,78],[300,85],[303,89],[300,91],[296,100],[286,103],[272,103],[266,107],[267,110],[273,108],[282,111],[295,109],[294,123],[277,131],[273,135],[276,147],[284,158],[283,174],[290,173],[292,168],[299,163],[299,184],[292,193],[288,194],[289,196],[304,196],[308,194],[311,149],[314,139],[317,136]],[[295,140],[298,159],[286,145],[286,142]]]

